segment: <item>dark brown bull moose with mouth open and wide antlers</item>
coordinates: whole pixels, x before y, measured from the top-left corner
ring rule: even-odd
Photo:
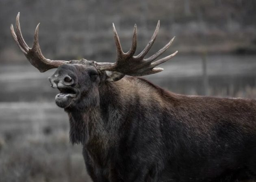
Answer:
[[[40,72],[59,89],[56,104],[67,112],[69,137],[82,144],[93,182],[220,182],[256,179],[256,100],[186,96],[164,90],[139,77],[163,71],[173,58],[135,56],[137,27],[124,53],[113,24],[116,62],[50,60],[41,53],[39,24],[33,47],[22,37],[19,14],[13,39]]]

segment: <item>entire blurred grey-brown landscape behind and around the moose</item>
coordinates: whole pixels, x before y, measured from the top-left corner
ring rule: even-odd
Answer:
[[[112,22],[124,51],[137,24],[139,53],[159,19],[148,56],[173,36],[163,56],[179,53],[146,79],[180,94],[256,98],[255,0],[0,0],[0,182],[90,181],[54,103],[54,70],[39,73],[11,37],[19,11],[25,41],[40,22],[41,50],[55,60],[114,62]]]

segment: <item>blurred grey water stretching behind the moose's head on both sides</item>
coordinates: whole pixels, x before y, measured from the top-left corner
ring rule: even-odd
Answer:
[[[236,96],[246,86],[256,85],[256,56],[208,55],[206,72],[210,95],[221,95],[218,90],[233,88],[233,92],[222,96]],[[161,65],[164,71],[145,78],[154,84],[180,94],[203,94],[202,57],[200,55],[179,56]],[[48,76],[54,70],[39,73],[30,64],[3,65],[0,68],[1,102],[54,102],[58,92],[50,87]]]

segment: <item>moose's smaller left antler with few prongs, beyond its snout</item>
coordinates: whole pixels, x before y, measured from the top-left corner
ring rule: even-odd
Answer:
[[[40,23],[39,23],[40,24]],[[20,47],[22,52],[25,54],[26,58],[29,60],[29,62],[35,66],[40,72],[45,72],[49,69],[57,68],[63,64],[68,64],[67,61],[62,60],[49,60],[46,59],[40,49],[39,42],[38,42],[38,29],[39,24],[37,25],[37,28],[35,29],[35,35],[34,35],[34,43],[33,47],[30,48],[24,41],[22,37],[22,32],[20,30],[20,12],[18,13],[16,17],[16,34],[13,29],[13,24],[11,24],[11,34],[13,36],[13,39],[17,43],[17,45]]]

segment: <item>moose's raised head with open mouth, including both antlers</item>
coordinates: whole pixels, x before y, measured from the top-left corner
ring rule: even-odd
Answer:
[[[29,62],[35,66],[40,72],[45,72],[49,69],[58,68],[56,72],[48,78],[52,88],[58,88],[60,94],[55,97],[56,104],[62,108],[70,108],[79,105],[82,102],[83,106],[95,104],[94,95],[98,93],[98,87],[110,81],[115,82],[123,78],[125,75],[143,76],[158,73],[163,71],[162,68],[155,68],[159,64],[173,58],[178,51],[165,58],[156,60],[158,56],[171,45],[174,38],[169,41],[156,54],[145,58],[152,47],[156,36],[158,34],[160,21],[156,26],[156,30],[146,47],[140,54],[135,56],[137,47],[137,27],[134,26],[132,46],[126,53],[123,52],[117,31],[113,24],[113,31],[115,36],[115,44],[117,50],[117,60],[115,63],[111,62],[95,62],[85,59],[81,60],[50,60],[46,59],[41,53],[38,41],[39,24],[35,29],[33,47],[30,48],[22,37],[20,28],[20,13],[16,17],[16,33],[11,25],[11,33],[13,39],[25,54]],[[96,96],[95,96],[96,97]]]

